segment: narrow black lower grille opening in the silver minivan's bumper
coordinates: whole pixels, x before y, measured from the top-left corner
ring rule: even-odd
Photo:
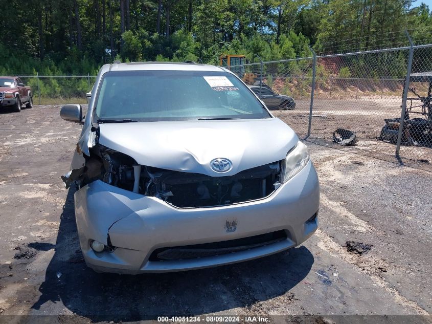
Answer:
[[[153,251],[150,261],[179,261],[236,253],[286,240],[284,230],[244,237],[243,239],[160,248]]]

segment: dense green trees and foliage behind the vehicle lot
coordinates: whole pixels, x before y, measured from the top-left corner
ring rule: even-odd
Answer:
[[[0,74],[96,75],[102,64],[117,59],[210,64],[218,64],[222,54],[242,54],[251,62],[293,59],[310,57],[308,45],[319,54],[406,46],[405,28],[415,42],[432,41],[430,10],[424,4],[413,7],[412,0],[170,0],[162,2],[158,31],[157,0],[121,1],[130,6],[124,19],[114,0],[28,0],[26,6],[10,0],[0,20]],[[430,51],[418,53],[414,68],[432,69],[424,59]],[[334,66],[319,62],[316,74],[403,78],[406,59],[402,51],[344,57]],[[293,84],[304,91],[309,85],[300,76],[310,64],[310,59],[268,63],[264,74],[276,82],[277,75],[289,72],[280,80],[281,91],[293,91]],[[36,86],[34,78],[28,83]],[[69,85],[88,90],[85,78],[61,84],[39,79],[41,96],[63,94]]]

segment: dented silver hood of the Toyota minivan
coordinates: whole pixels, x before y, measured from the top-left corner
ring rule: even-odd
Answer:
[[[99,143],[163,169],[230,176],[282,160],[298,137],[278,118],[100,124]],[[220,174],[210,162],[229,159]]]

